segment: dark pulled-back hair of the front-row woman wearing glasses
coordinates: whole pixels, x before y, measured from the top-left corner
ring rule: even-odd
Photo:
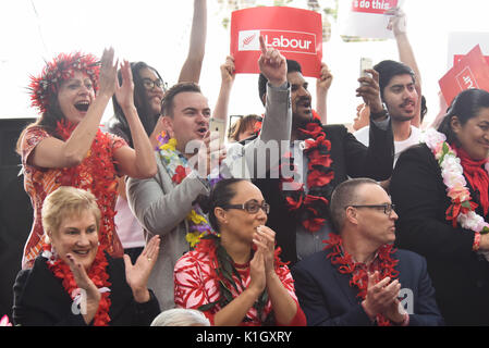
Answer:
[[[216,184],[210,190],[209,196],[199,195],[197,202],[204,213],[208,214],[210,226],[213,231],[219,232],[220,226],[215,215],[217,207],[224,207],[229,204],[231,199],[236,196],[234,189],[235,184],[245,182],[244,178],[225,178]]]

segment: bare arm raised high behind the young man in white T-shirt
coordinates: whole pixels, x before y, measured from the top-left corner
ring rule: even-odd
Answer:
[[[400,8],[389,10],[386,14],[392,15],[388,28],[394,33],[395,41],[398,42],[399,60],[409,66],[416,75],[415,88],[419,98],[416,104],[416,116],[411,121],[411,124],[419,128],[421,125],[421,74],[407,38],[406,14]]]

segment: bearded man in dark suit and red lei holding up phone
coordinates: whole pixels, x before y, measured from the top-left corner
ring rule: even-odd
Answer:
[[[332,231],[329,199],[347,177],[387,179],[392,172],[393,138],[390,117],[380,100],[379,75],[360,77],[357,96],[370,105],[370,142],[365,147],[343,125],[323,126],[313,112],[311,97],[301,65],[288,60],[292,101],[292,158],[283,158],[281,175],[272,172],[255,178],[271,209],[268,226],[277,232],[281,258],[292,264],[323,249]],[[259,94],[265,100],[267,78],[260,75]],[[296,169],[293,175],[286,173]]]

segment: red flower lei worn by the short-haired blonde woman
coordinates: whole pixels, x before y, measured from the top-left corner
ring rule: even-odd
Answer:
[[[45,245],[45,250],[50,250],[51,246]],[[74,299],[75,290],[78,285],[75,282],[73,273],[70,266],[61,259],[56,261],[46,261],[48,269],[54,274],[54,276],[62,281],[62,285],[72,299]],[[109,274],[107,274],[106,256],[103,254],[103,248],[99,247],[97,254],[95,256],[94,263],[88,271],[88,277],[94,282],[97,288],[109,287],[112,284],[109,282]],[[101,294],[98,304],[97,313],[94,316],[94,326],[108,326],[110,322],[109,309],[111,300],[109,298],[110,293],[106,291]]]

